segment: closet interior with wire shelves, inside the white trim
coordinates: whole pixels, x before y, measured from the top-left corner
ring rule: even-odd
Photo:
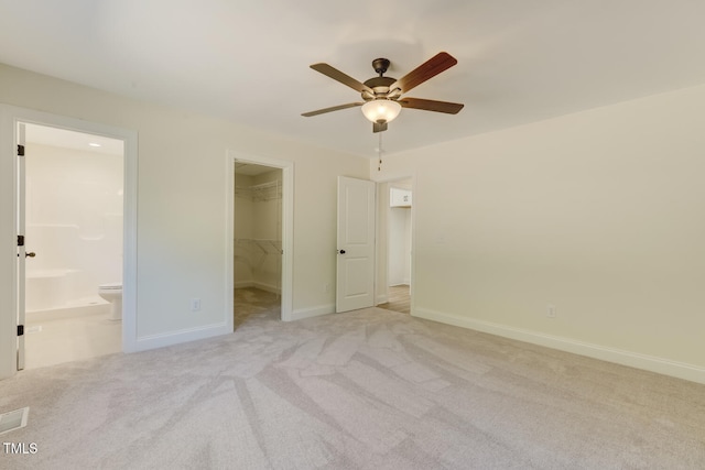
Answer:
[[[234,329],[282,317],[282,188],[279,167],[235,160]]]

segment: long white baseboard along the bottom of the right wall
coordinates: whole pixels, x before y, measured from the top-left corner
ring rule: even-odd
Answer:
[[[571,338],[512,328],[506,325],[460,317],[426,308],[415,308],[412,311],[412,316],[705,384],[705,368],[684,362],[577,341]]]

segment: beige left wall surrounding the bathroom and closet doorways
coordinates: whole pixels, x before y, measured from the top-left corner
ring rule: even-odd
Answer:
[[[322,287],[335,282],[336,177],[367,177],[367,160],[6,65],[0,102],[139,133],[138,339],[208,328],[229,315],[227,150],[294,162],[293,308],[334,305],[334,291]],[[198,314],[192,297],[202,299]]]

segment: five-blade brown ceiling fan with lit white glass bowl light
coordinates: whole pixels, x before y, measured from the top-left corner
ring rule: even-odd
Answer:
[[[315,111],[304,112],[301,116],[310,118],[312,116],[324,114],[326,112],[338,111],[340,109],[362,107],[362,113],[372,122],[372,132],[382,132],[387,130],[387,123],[401,111],[401,108],[421,109],[424,111],[445,112],[448,114],[457,114],[464,105],[457,102],[435,101],[431,99],[406,98],[403,94],[412,88],[423,84],[430,78],[435,77],[440,73],[453,67],[458,61],[446,52],[441,52],[419,67],[411,70],[400,79],[384,77],[384,73],[389,68],[389,59],[376,58],[372,61],[375,72],[378,77],[372,77],[365,83],[360,83],[349,75],[344,74],[329,66],[328,64],[313,64],[311,68],[326,75],[334,80],[347,85],[356,91],[360,92],[362,101],[348,102],[346,105],[323,108]]]

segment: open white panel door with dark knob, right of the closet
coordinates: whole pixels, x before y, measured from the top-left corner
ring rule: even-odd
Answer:
[[[376,187],[338,176],[337,313],[375,305]]]

